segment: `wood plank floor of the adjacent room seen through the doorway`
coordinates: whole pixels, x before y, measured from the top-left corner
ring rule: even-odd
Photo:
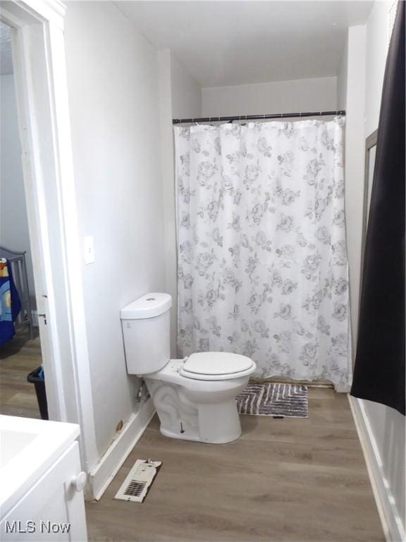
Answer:
[[[0,344],[0,414],[41,418],[35,386],[27,382],[41,361],[39,337],[30,340],[27,330]]]

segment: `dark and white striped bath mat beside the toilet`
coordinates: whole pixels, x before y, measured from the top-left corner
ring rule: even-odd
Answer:
[[[237,406],[240,414],[307,418],[307,386],[250,382],[237,396]]]

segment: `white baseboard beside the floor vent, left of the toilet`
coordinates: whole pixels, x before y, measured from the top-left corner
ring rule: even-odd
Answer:
[[[99,463],[90,469],[90,498],[95,500],[101,498],[109,483],[116,476],[118,469],[120,469],[142,433],[144,433],[149,421],[154,416],[154,412],[154,404],[152,399],[149,398],[140,406],[140,410],[125,423],[125,426],[117,438],[113,440],[109,450],[101,457]]]

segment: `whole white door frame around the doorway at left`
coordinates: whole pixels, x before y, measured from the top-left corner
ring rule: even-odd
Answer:
[[[49,418],[80,425],[82,468],[99,459],[82,287],[63,19],[59,0],[2,1],[11,26],[25,198]]]

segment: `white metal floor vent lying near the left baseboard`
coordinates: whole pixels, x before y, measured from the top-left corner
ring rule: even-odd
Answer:
[[[149,488],[151,487],[161,464],[161,461],[137,459],[133,469],[128,473],[127,478],[125,478],[121,484],[121,488],[114,498],[118,500],[142,502],[147,496]]]

